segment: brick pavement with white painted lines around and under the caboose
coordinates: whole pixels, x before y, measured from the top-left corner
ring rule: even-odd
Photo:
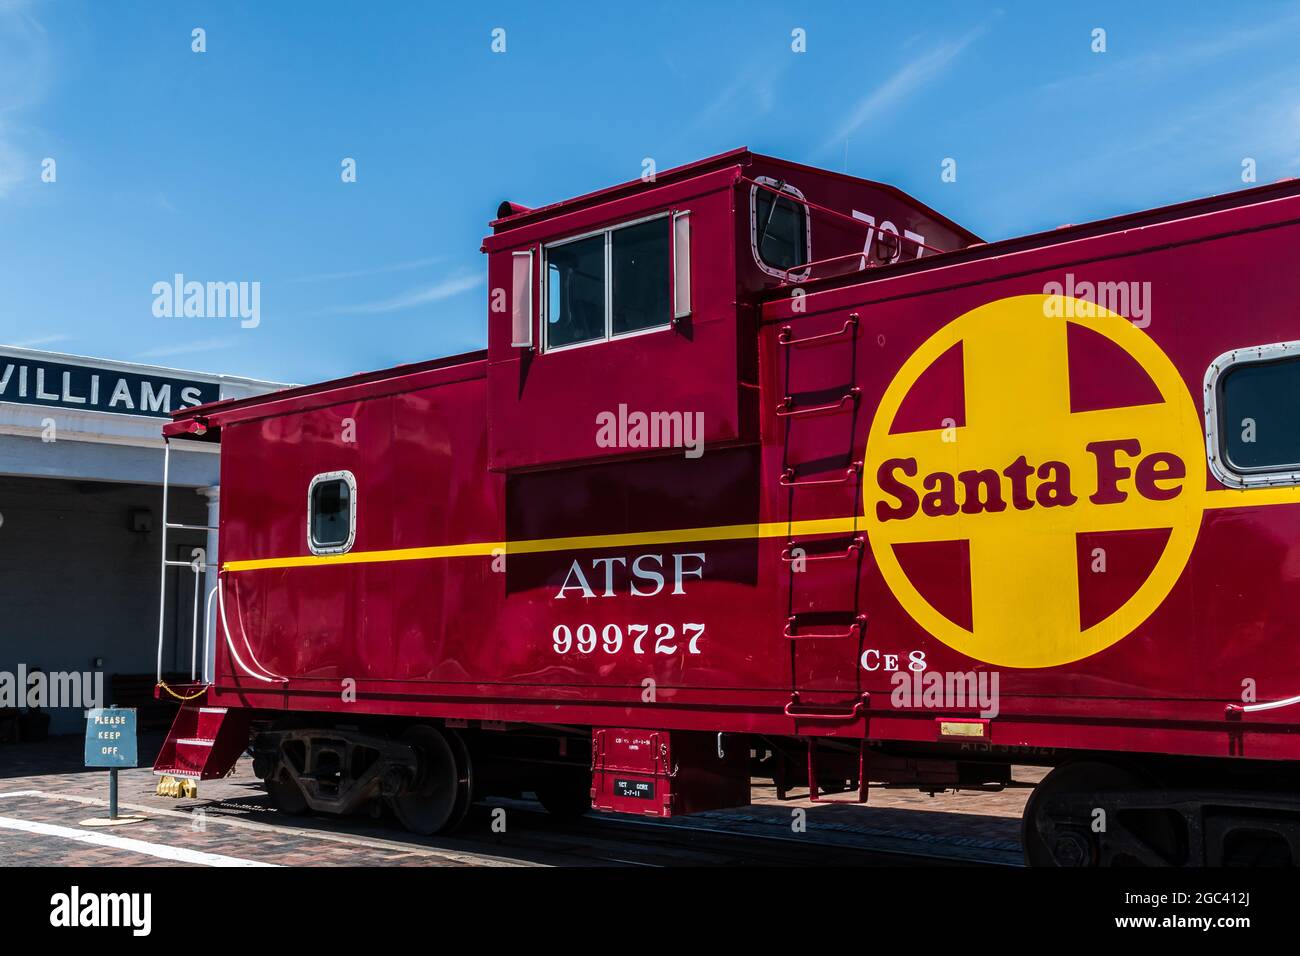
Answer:
[[[142,756],[152,753],[160,740],[142,737]],[[563,831],[556,831],[558,836],[546,835],[545,821],[530,834],[520,836],[516,831],[515,839],[499,835],[489,839],[486,810],[472,819],[469,832],[441,838],[413,838],[390,821],[368,817],[285,817],[269,805],[247,758],[239,761],[231,777],[200,783],[199,797],[191,800],[156,796],[157,778],[147,767],[121,771],[121,812],[140,813],[148,819],[90,831],[79,823],[88,817],[107,816],[108,779],[105,771],[83,769],[81,758],[79,737],[0,747],[0,818],[263,865],[599,865],[602,860],[599,856],[589,858],[595,851],[582,845],[590,844],[588,839],[566,836]],[[1044,773],[1034,767],[1015,770],[1017,779],[1030,782],[1040,779]],[[806,799],[777,801],[775,788],[755,786],[753,806],[684,818],[682,822],[693,822],[714,832],[746,829],[788,832],[790,810],[803,808],[807,810],[809,834],[819,839],[867,836],[885,838],[890,845],[902,848],[913,844],[940,849],[987,848],[1009,862],[1018,853],[1019,817],[1028,792],[1008,790],[1001,793],[942,792],[930,796],[907,790],[874,790],[870,805],[857,806],[811,804]],[[0,865],[192,864],[0,826]]]

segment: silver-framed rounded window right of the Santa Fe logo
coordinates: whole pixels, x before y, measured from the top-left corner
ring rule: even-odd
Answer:
[[[1216,477],[1234,488],[1300,484],[1300,342],[1219,356],[1205,393]]]

